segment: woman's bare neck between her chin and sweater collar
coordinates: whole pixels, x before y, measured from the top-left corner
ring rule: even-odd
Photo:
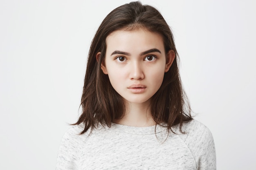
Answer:
[[[116,120],[115,123],[136,127],[155,125],[148,102],[142,104],[126,103],[126,113],[124,117]]]

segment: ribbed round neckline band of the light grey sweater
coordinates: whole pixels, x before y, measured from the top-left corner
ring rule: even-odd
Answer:
[[[166,130],[166,127],[164,127],[164,124],[148,127],[136,127],[112,123],[110,129],[132,135],[152,135]]]

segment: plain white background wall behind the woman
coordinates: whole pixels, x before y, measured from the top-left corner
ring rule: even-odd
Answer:
[[[130,1],[0,1],[0,169],[53,170],[79,116],[90,42]],[[173,30],[192,109],[211,132],[219,170],[255,170],[254,0],[143,0]]]

